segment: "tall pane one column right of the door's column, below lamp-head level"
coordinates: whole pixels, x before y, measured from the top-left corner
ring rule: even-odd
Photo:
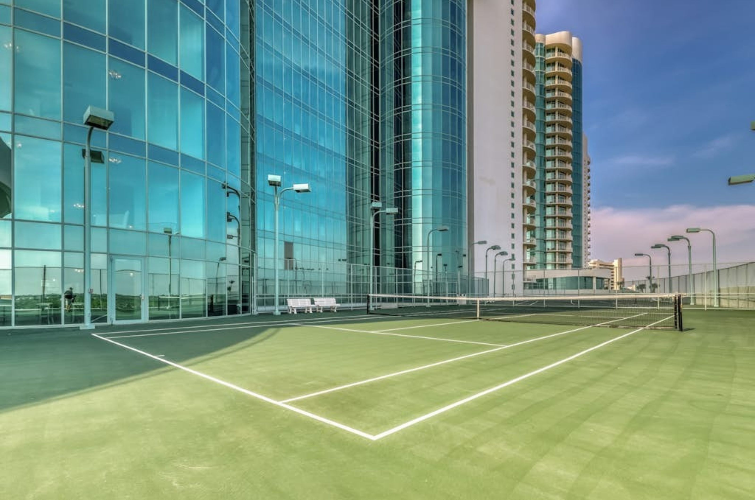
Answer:
[[[149,230],[178,233],[178,169],[149,162]]]

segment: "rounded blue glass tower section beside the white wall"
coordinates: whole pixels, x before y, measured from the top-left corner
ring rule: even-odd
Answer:
[[[380,5],[379,195],[399,207],[381,232],[385,248],[395,248],[381,264],[409,273],[402,281],[414,292],[441,292],[436,285],[457,276],[467,252],[467,2]],[[428,239],[441,226],[448,230]]]

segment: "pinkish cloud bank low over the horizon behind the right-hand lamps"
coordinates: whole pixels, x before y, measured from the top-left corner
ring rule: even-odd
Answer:
[[[643,265],[645,258],[635,252],[657,253],[665,262],[663,251],[651,250],[655,243],[666,243],[674,234],[685,234],[687,227],[706,227],[716,232],[717,260],[720,262],[755,261],[755,205],[721,205],[698,207],[672,205],[666,208],[597,208],[592,218],[593,256],[602,260],[625,258],[626,265]],[[710,234],[689,234],[694,262],[713,261]],[[680,243],[672,248],[674,264],[686,264],[686,248]]]

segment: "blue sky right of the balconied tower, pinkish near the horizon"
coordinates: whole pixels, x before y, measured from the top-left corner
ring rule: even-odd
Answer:
[[[716,213],[731,221],[713,229],[747,233],[724,258],[755,260],[755,227],[735,224],[755,185],[726,185],[755,172],[755,2],[538,0],[537,13],[538,32],[569,30],[584,44],[596,230],[617,214],[623,224],[627,213],[638,224],[654,213],[688,222],[723,207]],[[621,256],[599,233],[593,241],[606,253],[597,258]]]

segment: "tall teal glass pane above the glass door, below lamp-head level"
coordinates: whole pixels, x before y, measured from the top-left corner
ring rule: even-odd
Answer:
[[[144,160],[112,154],[110,169],[110,227],[146,229]]]

